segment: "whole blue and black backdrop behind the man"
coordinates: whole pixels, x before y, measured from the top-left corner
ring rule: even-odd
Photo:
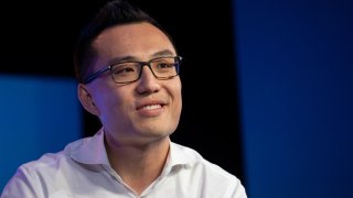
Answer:
[[[249,197],[353,197],[353,2],[133,0],[184,57],[174,142]],[[3,2],[0,189],[19,165],[93,135],[73,47],[105,1]]]

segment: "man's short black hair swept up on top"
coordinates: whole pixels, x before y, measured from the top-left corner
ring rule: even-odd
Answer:
[[[96,52],[92,46],[92,42],[104,30],[116,25],[141,22],[150,23],[161,30],[173,44],[167,31],[143,10],[126,0],[111,0],[96,13],[90,23],[83,29],[78,36],[74,51],[74,68],[78,82],[83,82],[87,75],[93,72],[92,61],[96,56]]]

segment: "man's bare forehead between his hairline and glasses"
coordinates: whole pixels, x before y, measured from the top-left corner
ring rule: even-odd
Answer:
[[[116,25],[103,31],[93,42],[98,56],[148,56],[175,50],[169,37],[150,23]]]

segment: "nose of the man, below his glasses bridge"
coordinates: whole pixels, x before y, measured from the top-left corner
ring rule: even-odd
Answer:
[[[137,92],[139,95],[157,92],[161,88],[159,80],[154,77],[152,70],[148,66],[142,66],[140,79],[137,81]]]

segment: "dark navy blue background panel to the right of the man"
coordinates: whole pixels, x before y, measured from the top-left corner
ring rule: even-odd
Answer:
[[[352,6],[234,1],[249,197],[353,197]]]

